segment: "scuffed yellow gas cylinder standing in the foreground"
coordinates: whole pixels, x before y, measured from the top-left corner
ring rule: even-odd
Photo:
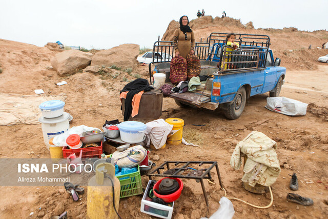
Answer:
[[[99,169],[102,169],[99,171]],[[110,179],[114,183],[113,187]],[[98,164],[96,166],[96,175],[88,183],[87,196],[87,218],[118,218],[113,207],[113,196],[116,211],[119,207],[120,183],[115,177],[115,167],[110,163]]]

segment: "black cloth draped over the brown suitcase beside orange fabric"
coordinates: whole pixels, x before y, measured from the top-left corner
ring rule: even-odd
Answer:
[[[124,111],[124,121],[128,121],[132,112],[132,99],[133,96],[140,91],[150,91],[154,89],[153,87],[149,86],[149,83],[144,78],[135,79],[133,82],[127,84],[119,93],[129,91],[127,94],[127,98],[125,99],[125,111]]]

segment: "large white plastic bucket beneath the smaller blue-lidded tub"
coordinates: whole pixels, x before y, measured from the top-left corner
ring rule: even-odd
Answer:
[[[50,147],[49,140],[51,138],[70,129],[70,124],[68,122],[70,116],[69,113],[64,112],[63,115],[56,118],[45,118],[43,116],[39,118],[39,122],[42,123],[43,139],[48,150]]]

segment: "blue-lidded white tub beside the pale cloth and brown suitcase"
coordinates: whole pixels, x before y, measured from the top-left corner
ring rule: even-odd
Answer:
[[[121,140],[126,143],[138,143],[144,140],[147,126],[136,121],[126,121],[117,125]]]

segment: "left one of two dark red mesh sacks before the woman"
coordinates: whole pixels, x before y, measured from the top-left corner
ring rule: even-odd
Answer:
[[[182,56],[174,57],[170,63],[170,81],[177,85],[179,82],[187,81],[187,60]]]

